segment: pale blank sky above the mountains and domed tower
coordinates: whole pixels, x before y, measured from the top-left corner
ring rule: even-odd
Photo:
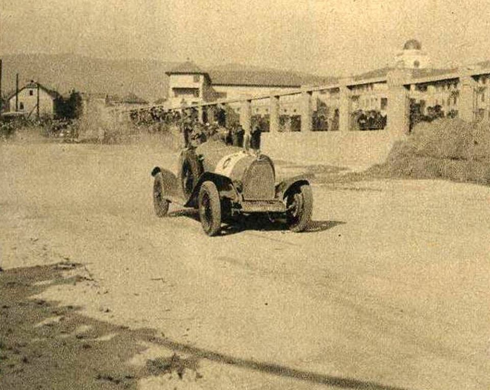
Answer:
[[[439,67],[490,59],[490,0],[0,0],[0,55],[192,59],[349,75],[409,38]]]

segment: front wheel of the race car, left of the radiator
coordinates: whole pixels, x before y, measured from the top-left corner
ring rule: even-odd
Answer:
[[[208,236],[214,236],[221,227],[219,193],[211,181],[205,181],[199,190],[199,218]]]

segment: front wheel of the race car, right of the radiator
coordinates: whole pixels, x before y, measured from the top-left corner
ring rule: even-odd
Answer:
[[[313,193],[309,184],[302,184],[291,189],[286,196],[286,222],[293,232],[304,231],[313,211]]]

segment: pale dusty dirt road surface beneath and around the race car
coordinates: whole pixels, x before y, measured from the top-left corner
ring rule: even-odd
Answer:
[[[150,170],[171,161],[150,145],[0,146],[0,275],[81,264],[62,272],[74,283],[50,274],[28,291],[60,310],[79,308],[78,326],[106,326],[90,336],[99,343],[114,334],[124,340],[99,356],[80,355],[92,362],[119,356],[121,367],[110,365],[115,373],[102,363],[99,371],[96,364],[80,371],[101,375],[90,386],[490,386],[489,188],[316,185],[306,233],[248,221],[209,238],[192,212],[153,214]],[[2,304],[10,308],[8,297],[2,294]],[[12,347],[17,336],[0,329],[3,345]],[[2,356],[0,383],[33,375],[15,372],[15,359],[8,368],[13,358]],[[163,363],[152,371],[155,361]],[[67,371],[50,371],[52,383],[69,384]]]

